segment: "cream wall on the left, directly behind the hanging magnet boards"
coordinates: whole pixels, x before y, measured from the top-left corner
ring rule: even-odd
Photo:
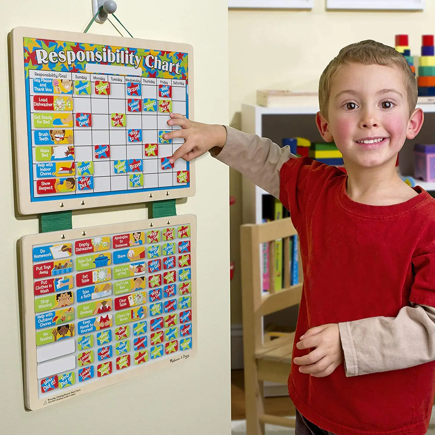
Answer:
[[[192,44],[195,117],[225,124],[227,3],[204,4],[202,0],[119,0],[117,17],[135,37]],[[39,411],[24,410],[16,242],[21,235],[37,233],[38,221],[14,212],[7,33],[18,26],[83,31],[90,7],[90,0],[0,2],[0,434],[229,434],[228,169],[210,156],[197,161],[196,196],[177,206],[178,214],[194,213],[198,220],[196,358]],[[116,34],[109,23],[93,24],[91,32]],[[73,212],[73,226],[145,217],[142,205]]]

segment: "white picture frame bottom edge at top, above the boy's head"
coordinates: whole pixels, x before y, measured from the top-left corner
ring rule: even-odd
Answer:
[[[326,0],[326,9],[424,10],[425,0]]]

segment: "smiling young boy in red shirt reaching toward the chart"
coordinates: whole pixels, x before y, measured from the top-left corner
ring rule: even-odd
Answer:
[[[172,114],[171,157],[210,150],[290,211],[304,287],[288,390],[296,434],[425,434],[435,374],[435,200],[395,171],[423,123],[405,57],[367,40],[319,82],[318,130],[347,175],[231,127]],[[364,375],[364,376],[362,376]]]

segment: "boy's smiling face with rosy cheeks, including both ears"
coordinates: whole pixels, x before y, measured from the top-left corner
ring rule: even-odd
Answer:
[[[350,64],[332,79],[328,120],[321,115],[316,120],[322,137],[335,141],[346,167],[394,167],[405,138],[420,131],[423,112],[416,109],[410,116],[401,71]]]

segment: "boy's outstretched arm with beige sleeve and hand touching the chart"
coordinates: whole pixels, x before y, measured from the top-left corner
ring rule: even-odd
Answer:
[[[290,157],[296,157],[290,153],[290,147],[281,148],[255,134],[221,125],[201,124],[180,114],[171,114],[167,124],[181,129],[165,134],[164,139],[184,139],[184,144],[169,159],[171,163],[179,158],[190,161],[210,151],[213,157],[279,198],[281,167]]]

